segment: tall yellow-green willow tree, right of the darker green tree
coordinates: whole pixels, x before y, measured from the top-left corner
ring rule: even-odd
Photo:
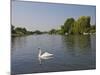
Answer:
[[[77,34],[82,34],[83,32],[89,32],[90,28],[90,17],[81,16],[74,23],[73,32]]]

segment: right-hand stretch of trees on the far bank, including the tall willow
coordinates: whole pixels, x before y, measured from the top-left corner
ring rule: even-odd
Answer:
[[[68,18],[59,30],[51,29],[50,34],[84,34],[95,33],[96,25],[90,24],[90,16],[81,16],[76,21]]]

